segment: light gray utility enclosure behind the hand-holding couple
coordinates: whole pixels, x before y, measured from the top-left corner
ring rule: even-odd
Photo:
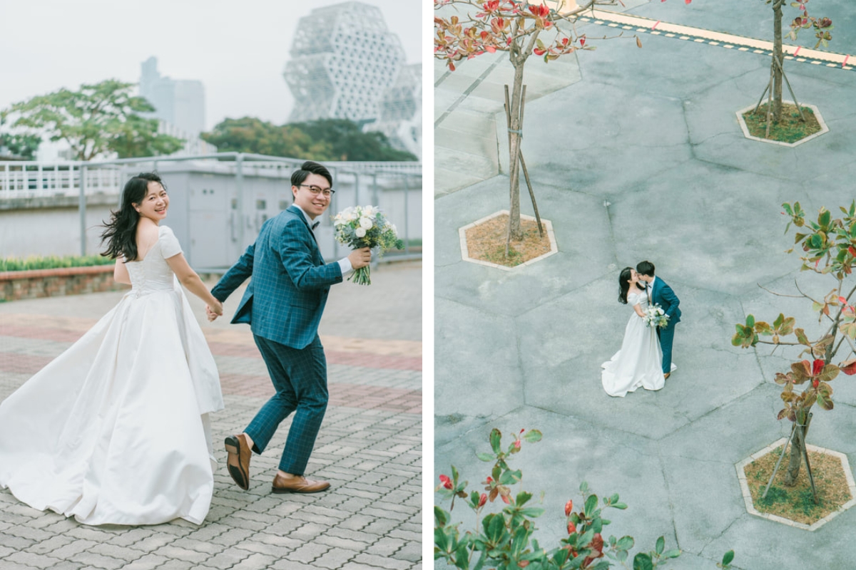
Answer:
[[[158,173],[169,191],[172,228],[187,261],[197,271],[223,270],[253,244],[265,220],[293,202],[291,173],[294,162],[161,162]],[[398,228],[401,239],[421,238],[422,179],[420,173],[372,169],[371,163],[326,164],[333,174],[336,194],[315,230],[324,259],[348,255],[336,243],[331,217],[354,206],[379,206]]]

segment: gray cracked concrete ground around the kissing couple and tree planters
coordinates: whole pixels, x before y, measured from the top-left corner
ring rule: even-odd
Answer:
[[[454,73],[435,62],[435,116],[445,118],[435,131],[434,480],[452,464],[463,479],[482,481],[487,464],[475,454],[489,449],[490,428],[538,428],[544,440],[524,444],[513,467],[522,470],[524,489],[536,497],[544,491],[535,535],[542,546],[565,536],[562,507],[579,500],[586,480],[629,505],[610,513],[607,532],[632,535],[637,549],[652,549],[664,535],[667,548],[683,550],[667,568],[713,570],[728,549],[742,570],[853,567],[856,544],[847,537],[856,509],[817,532],[746,513],[734,465],[788,436],[790,425],[776,420],[781,389],[772,378],[796,354],[737,350],[729,340],[749,313],[772,320],[784,312],[816,331],[805,303],[757,284],[790,294],[798,279],[819,297],[832,288],[800,273],[797,256],[784,253],[793,234],[783,235],[780,204],[799,200],[809,212],[837,212],[853,200],[856,73],[841,64],[786,62],[800,103],[816,104],[830,132],[795,148],[747,140],[735,112],[757,103],[770,56],[688,33],[681,35],[691,39],[670,38],[661,26],[681,22],[769,41],[769,7],[624,3],[623,12],[645,18],[649,29],[662,21],[654,30],[660,34],[646,32],[642,50],[611,40],[564,67],[555,64],[566,58],[527,63],[524,82],[537,97],[526,100],[522,152],[559,252],[524,269],[461,261],[458,237],[459,227],[508,208],[506,134],[496,105],[510,73],[507,55],[461,62]],[[847,32],[856,24],[850,3],[815,8],[835,22],[831,47],[856,51]],[[786,6],[786,20],[791,12]],[[615,35],[603,22],[582,23],[581,31]],[[633,33],[641,27],[634,24]],[[521,209],[532,214],[525,191]],[[629,318],[616,301],[616,278],[643,259],[681,298],[678,370],[662,391],[610,398],[600,364],[619,349]],[[835,383],[835,409],[817,410],[809,439],[847,454],[853,466],[856,382]],[[465,511],[454,513],[462,530],[473,523]]]

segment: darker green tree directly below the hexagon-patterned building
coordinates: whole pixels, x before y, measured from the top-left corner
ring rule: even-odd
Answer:
[[[347,119],[319,119],[305,123],[291,123],[306,132],[312,140],[330,144],[333,160],[340,161],[417,161],[405,150],[389,146],[383,132],[362,132],[360,126]]]

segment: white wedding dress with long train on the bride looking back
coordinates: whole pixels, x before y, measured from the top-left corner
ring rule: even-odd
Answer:
[[[205,520],[223,396],[166,262],[180,252],[161,226],[122,301],[0,403],[0,488],[87,525]]]

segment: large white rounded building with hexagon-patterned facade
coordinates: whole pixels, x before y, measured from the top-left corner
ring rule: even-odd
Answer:
[[[345,2],[313,9],[300,18],[285,66],[294,94],[289,122],[377,120],[383,93],[405,64],[401,40],[380,9]]]

